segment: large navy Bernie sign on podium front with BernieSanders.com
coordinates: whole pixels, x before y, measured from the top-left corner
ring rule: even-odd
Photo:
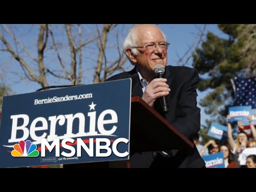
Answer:
[[[131,79],[3,98],[0,167],[129,159]]]

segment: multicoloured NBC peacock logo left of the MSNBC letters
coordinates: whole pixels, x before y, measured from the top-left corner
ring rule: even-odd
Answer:
[[[13,157],[37,157],[39,151],[36,150],[37,146],[32,144],[31,141],[27,140],[20,141],[19,144],[15,144],[12,150]]]

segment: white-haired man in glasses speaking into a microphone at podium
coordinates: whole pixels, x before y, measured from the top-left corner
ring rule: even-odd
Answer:
[[[149,107],[193,142],[193,135],[200,130],[200,109],[196,100],[199,76],[193,68],[166,66],[169,44],[158,26],[134,26],[124,41],[124,52],[134,68],[106,81],[131,78],[132,96],[141,97]],[[157,78],[157,71],[162,68],[164,76]],[[165,106],[164,98],[167,103]],[[140,118],[143,118],[143,114]],[[205,167],[195,146],[131,154],[130,164],[131,167],[152,168]]]

